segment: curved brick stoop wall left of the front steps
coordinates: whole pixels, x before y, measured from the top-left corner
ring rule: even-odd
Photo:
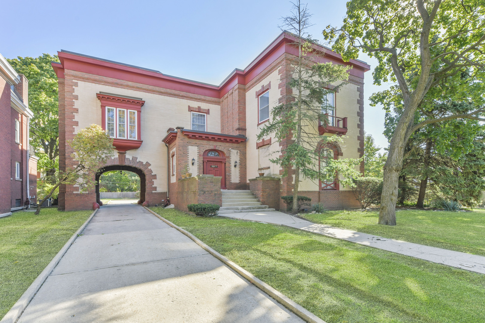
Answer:
[[[188,211],[187,204],[222,205],[222,177],[198,175],[177,181],[176,190],[170,191],[170,202],[181,211]]]

